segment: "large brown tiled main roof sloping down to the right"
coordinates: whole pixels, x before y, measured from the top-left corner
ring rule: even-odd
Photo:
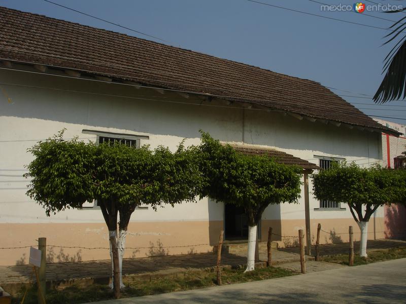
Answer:
[[[321,84],[125,34],[0,7],[0,60],[77,69],[389,131]]]

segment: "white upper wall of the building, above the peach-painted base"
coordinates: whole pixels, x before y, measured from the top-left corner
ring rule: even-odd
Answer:
[[[66,210],[47,218],[43,208],[25,196],[26,181],[21,175],[26,172],[24,165],[32,160],[26,149],[62,128],[66,128],[66,138],[79,136],[85,140],[95,140],[95,135],[83,134],[83,129],[148,135],[149,140],[142,139],[141,144],[152,148],[162,144],[172,149],[183,138],[188,138],[187,144],[198,144],[198,130],[202,129],[222,141],[275,147],[316,164],[315,156],[340,157],[363,165],[382,160],[380,134],[299,121],[281,112],[215,107],[216,102],[207,101],[185,105],[178,102],[201,100],[17,71],[0,70],[0,82],[13,84],[2,85],[11,103],[0,95],[0,223],[103,222],[99,210]],[[302,201],[269,207],[263,218],[304,218]],[[351,218],[348,208],[314,211],[319,203],[313,195],[310,205],[311,218]],[[222,220],[223,205],[204,199],[158,212],[138,210],[132,216],[132,221],[208,219]]]

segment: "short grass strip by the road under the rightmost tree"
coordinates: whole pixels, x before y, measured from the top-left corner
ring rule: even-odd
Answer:
[[[391,259],[406,257],[406,247],[377,249],[368,251],[368,257],[361,257],[354,253],[354,266],[382,262]],[[348,265],[348,254],[325,255],[321,257],[324,262]]]

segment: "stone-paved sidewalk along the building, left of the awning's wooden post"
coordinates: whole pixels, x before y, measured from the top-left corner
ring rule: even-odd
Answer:
[[[227,268],[243,268],[246,264],[246,252],[238,254],[222,254],[221,263]],[[272,249],[273,263],[299,261],[299,255]],[[266,259],[266,252],[260,258]],[[309,257],[311,258],[311,257]],[[150,278],[176,273],[201,271],[215,267],[217,254],[197,253],[185,255],[165,255],[145,258],[125,258],[123,260],[123,276]],[[262,266],[265,262],[260,262]],[[32,272],[30,265],[0,266],[0,286],[15,293],[23,285],[29,284]],[[72,285],[90,285],[92,283],[107,284],[111,276],[111,261],[82,261],[47,264],[47,284],[53,287]],[[35,278],[34,278],[35,279]]]

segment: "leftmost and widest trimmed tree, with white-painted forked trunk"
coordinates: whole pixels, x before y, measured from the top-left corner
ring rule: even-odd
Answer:
[[[42,205],[48,216],[97,200],[109,237],[114,237],[118,247],[121,287],[125,237],[137,206],[147,204],[156,210],[164,204],[195,201],[202,181],[195,161],[197,149],[185,149],[183,142],[171,153],[162,146],[151,151],[149,146],[63,140],[62,131],[29,151],[35,159],[25,174],[31,177],[27,195]],[[111,249],[110,242],[112,257]]]

